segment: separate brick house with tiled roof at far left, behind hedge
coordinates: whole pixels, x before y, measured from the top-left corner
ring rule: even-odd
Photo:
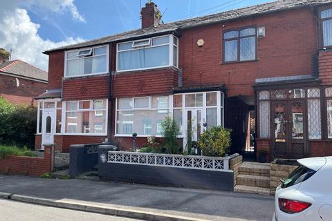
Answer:
[[[32,105],[46,90],[47,73],[21,60],[8,61],[9,52],[0,48],[0,97],[14,104]]]

